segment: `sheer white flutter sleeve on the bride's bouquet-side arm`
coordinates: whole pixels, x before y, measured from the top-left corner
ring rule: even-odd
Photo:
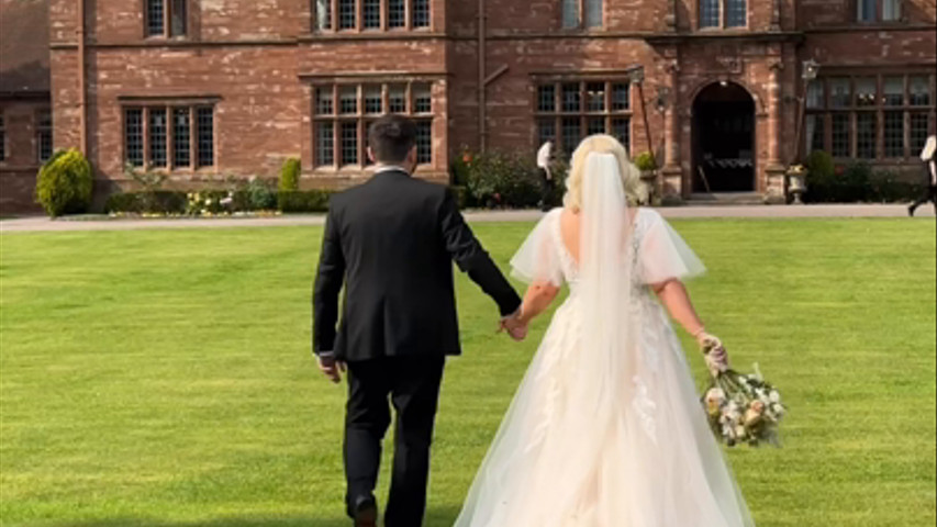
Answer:
[[[643,213],[648,216],[648,227],[638,248],[644,283],[688,280],[706,272],[693,249],[657,211],[645,210]]]

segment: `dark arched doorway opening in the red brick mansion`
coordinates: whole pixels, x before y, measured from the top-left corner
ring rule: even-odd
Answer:
[[[693,101],[693,192],[755,191],[755,100],[714,82]]]

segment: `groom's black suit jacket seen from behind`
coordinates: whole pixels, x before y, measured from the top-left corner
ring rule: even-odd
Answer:
[[[453,260],[503,316],[518,309],[445,187],[393,170],[334,195],[313,292],[313,351],[346,361],[459,355]]]

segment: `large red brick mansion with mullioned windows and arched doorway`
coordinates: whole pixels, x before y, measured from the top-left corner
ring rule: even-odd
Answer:
[[[935,11],[934,0],[49,0],[55,146],[83,148],[102,183],[125,184],[126,162],[205,184],[274,176],[295,156],[304,186],[344,186],[367,175],[368,122],[392,111],[417,120],[420,173],[440,181],[462,147],[533,156],[548,138],[569,148],[607,132],[633,154],[652,149],[671,195],[777,199],[797,150],[913,165],[935,128]]]

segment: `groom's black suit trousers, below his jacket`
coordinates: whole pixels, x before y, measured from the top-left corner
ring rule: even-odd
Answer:
[[[345,476],[349,515],[378,481],[381,440],[397,413],[387,527],[420,527],[426,509],[430,445],[445,357],[388,357],[348,363]]]

